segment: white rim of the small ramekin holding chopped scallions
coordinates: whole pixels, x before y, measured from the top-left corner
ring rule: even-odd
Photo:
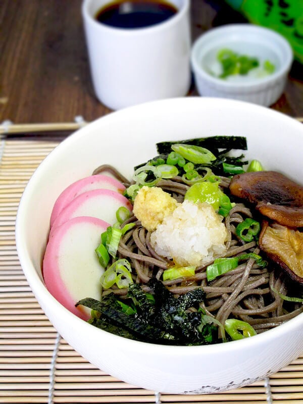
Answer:
[[[285,52],[286,57],[283,59],[281,66],[274,73],[261,77],[261,78],[249,78],[249,81],[227,81],[217,78],[209,74],[199,62],[199,51],[200,48],[210,41],[214,37],[218,37],[219,35],[232,35],[232,34],[241,34],[245,35],[248,33],[253,33],[256,36],[260,36],[260,43],[262,43],[262,36],[269,36],[271,40],[275,41],[281,48],[283,48],[283,52]],[[258,43],[259,41],[256,41]],[[209,46],[211,49],[211,46]],[[194,75],[203,78],[205,81],[208,81],[210,84],[216,85],[218,88],[221,87],[224,90],[238,90],[240,88],[249,89],[252,91],[256,89],[256,87],[269,87],[271,85],[275,85],[277,80],[282,78],[282,76],[286,75],[293,62],[293,51],[289,44],[289,42],[276,31],[261,27],[254,24],[249,23],[239,23],[239,24],[226,24],[216,28],[212,28],[209,31],[201,34],[193,43],[190,53],[190,63],[194,72]]]

